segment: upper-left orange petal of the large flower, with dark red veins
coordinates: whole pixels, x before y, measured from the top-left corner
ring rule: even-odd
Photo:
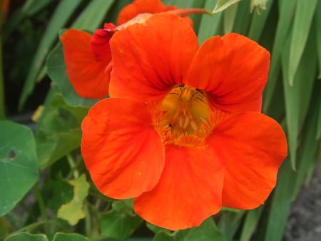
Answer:
[[[110,95],[156,101],[182,83],[198,49],[187,21],[173,14],[155,14],[111,39],[113,71]]]

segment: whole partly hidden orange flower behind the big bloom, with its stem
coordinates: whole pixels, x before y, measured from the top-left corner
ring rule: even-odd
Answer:
[[[74,90],[83,98],[104,98],[108,95],[111,75],[109,40],[115,31],[145,21],[150,14],[177,9],[164,6],[160,0],[136,0],[123,8],[118,16],[118,27],[105,24],[93,35],[86,31],[68,29],[61,36],[66,73]],[[180,9],[178,9],[180,10]],[[149,13],[149,14],[148,14]],[[181,9],[175,14],[207,13],[205,9]],[[141,16],[138,16],[141,14]],[[185,17],[192,26],[193,22]]]

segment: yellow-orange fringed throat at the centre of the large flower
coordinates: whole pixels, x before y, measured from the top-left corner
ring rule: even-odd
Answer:
[[[173,88],[157,110],[154,125],[165,144],[202,147],[214,127],[205,92],[187,85]]]

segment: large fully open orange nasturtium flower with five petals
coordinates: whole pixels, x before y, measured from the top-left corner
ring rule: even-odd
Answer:
[[[198,46],[173,14],[111,39],[111,98],[82,123],[81,153],[98,190],[170,230],[222,206],[252,209],[275,187],[285,133],[260,113],[270,54],[238,34]]]

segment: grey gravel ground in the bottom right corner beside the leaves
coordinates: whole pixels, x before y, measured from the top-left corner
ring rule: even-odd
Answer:
[[[283,241],[321,241],[321,166],[293,203]]]

